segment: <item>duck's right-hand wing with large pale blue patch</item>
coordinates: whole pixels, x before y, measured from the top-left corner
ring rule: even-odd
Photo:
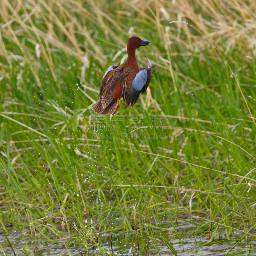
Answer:
[[[152,68],[155,68],[155,66],[151,66],[148,57],[146,57],[146,63],[148,68],[140,68],[139,73],[136,74],[131,86],[125,93],[125,108],[127,108],[129,105],[132,107],[137,102],[140,93],[145,93],[147,91],[149,82],[153,77],[151,74],[156,72],[156,70],[152,71]]]

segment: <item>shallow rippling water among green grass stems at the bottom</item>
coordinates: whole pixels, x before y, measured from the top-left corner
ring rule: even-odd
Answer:
[[[159,223],[158,225],[156,225],[157,228],[162,228],[162,231],[155,231],[154,237],[157,238],[157,232],[161,232],[161,234],[168,240],[168,242],[170,242],[173,245],[173,247],[175,248],[179,256],[192,256],[192,255],[217,256],[217,255],[226,255],[226,253],[236,244],[237,240],[244,235],[242,232],[236,231],[234,232],[234,240],[236,241],[220,240],[219,242],[215,241],[215,242],[206,244],[207,242],[209,242],[209,240],[207,240],[206,237],[200,237],[202,235],[199,234],[200,232],[202,232],[202,231],[199,232],[199,230],[201,229],[199,227],[206,224],[206,222],[196,221],[195,224],[191,224],[188,221],[190,220],[188,219],[177,220],[175,223],[175,226],[177,225],[176,228],[180,236],[180,239],[182,241],[182,244],[180,243],[180,240],[177,239],[177,236],[174,232],[174,228],[172,227],[170,222],[167,222],[167,221],[163,221],[162,223]],[[205,227],[207,228],[208,226],[205,225]],[[22,234],[25,237],[29,248],[31,249],[31,251],[34,252],[35,240],[34,240],[34,237],[31,239],[30,230],[24,229],[22,230]],[[221,234],[221,235],[223,237],[225,236],[225,234]],[[106,250],[107,252],[106,255],[108,254],[111,255],[110,234],[104,233],[104,234],[99,234],[98,236],[102,242],[101,249],[104,248]],[[144,243],[147,244],[148,242],[147,234],[145,233],[143,234],[143,236],[144,236]],[[12,247],[16,255],[25,255],[24,252],[22,251],[22,247],[26,249],[27,245],[23,240],[20,232],[9,230],[9,235],[7,235],[7,237],[10,243],[12,244]],[[68,237],[68,233],[66,237]],[[133,248],[134,248],[133,241],[135,240],[135,238],[136,238],[136,232],[133,230],[114,232],[112,234],[113,253],[117,256],[118,255],[132,256]],[[54,239],[54,236],[52,236],[51,239],[54,240],[53,243],[46,241],[45,238],[37,237],[38,244],[35,250],[36,256],[47,256],[47,255],[57,256],[57,255],[60,255],[65,250],[65,246],[62,241],[60,241],[57,238]],[[139,236],[139,239],[140,239],[140,248],[141,248],[140,236]],[[66,245],[70,244],[70,239],[64,239],[64,241],[66,241]],[[173,255],[170,249],[166,245],[164,245],[164,243],[160,239],[155,241],[161,255],[163,256]],[[247,243],[245,243],[245,241],[243,240],[242,243],[238,243],[232,249],[230,254],[236,253],[235,255],[247,256],[250,248],[250,242],[251,241],[248,240]],[[3,247],[6,255],[14,255],[3,233],[0,233],[0,244]],[[136,242],[136,247],[137,247],[137,242]],[[90,250],[88,253],[89,255],[102,254],[100,250],[97,247],[95,248],[94,246],[89,247],[89,250]],[[0,249],[0,252],[2,252],[1,249]],[[87,252],[84,247],[81,247],[80,252],[83,255],[87,255]],[[68,251],[65,251],[63,255],[69,255],[69,253],[70,255],[81,255],[80,252],[77,250],[75,246],[73,247],[69,246]],[[152,239],[149,239],[147,254],[149,253],[151,253],[151,255],[157,254],[157,251]],[[136,250],[134,255],[138,255],[138,252],[136,252]],[[252,241],[251,243],[250,255],[251,256],[256,255],[256,241]]]

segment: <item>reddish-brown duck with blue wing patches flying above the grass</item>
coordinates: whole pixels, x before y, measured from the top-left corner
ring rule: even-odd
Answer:
[[[102,78],[100,85],[100,100],[92,108],[100,115],[115,114],[120,108],[119,100],[124,99],[124,108],[133,106],[140,93],[145,93],[156,70],[146,57],[147,68],[139,68],[135,50],[148,41],[139,37],[131,37],[127,44],[128,59],[120,66],[110,66]]]

